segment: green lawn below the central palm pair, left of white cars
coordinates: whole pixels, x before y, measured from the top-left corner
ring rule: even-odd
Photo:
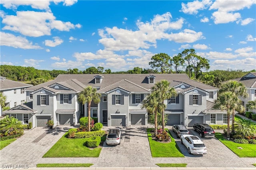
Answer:
[[[147,133],[152,157],[184,157],[168,129],[166,129],[166,131],[169,132],[169,135],[172,139],[170,143],[160,143],[158,141],[152,140],[150,133],[151,129],[152,128],[147,129]]]

